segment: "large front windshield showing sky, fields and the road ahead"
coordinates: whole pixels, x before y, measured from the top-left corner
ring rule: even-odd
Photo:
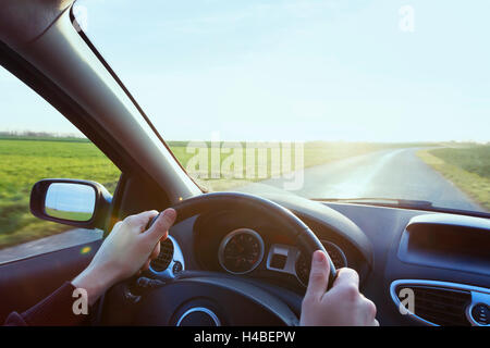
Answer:
[[[78,1],[207,190],[490,210],[487,0]]]

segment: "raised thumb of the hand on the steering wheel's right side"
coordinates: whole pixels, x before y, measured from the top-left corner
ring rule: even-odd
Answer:
[[[311,271],[305,298],[320,300],[329,285],[330,264],[321,250],[315,251],[311,259]]]

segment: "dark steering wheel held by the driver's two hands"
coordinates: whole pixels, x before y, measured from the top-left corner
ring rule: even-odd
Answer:
[[[209,211],[232,210],[258,214],[281,228],[309,260],[316,250],[322,250],[328,256],[320,240],[302,220],[287,209],[257,196],[242,192],[204,194],[186,199],[173,208],[177,213],[175,224]],[[330,257],[328,261],[331,286],[336,272]],[[296,325],[298,322],[290,306],[278,296],[285,289],[274,291],[270,286],[261,286],[249,277],[184,271],[174,279],[159,284],[144,291],[140,301],[128,309],[131,313],[124,313],[131,324],[219,326]],[[118,297],[115,291],[118,290],[112,288],[106,295],[103,307],[109,322],[110,318],[121,315],[121,296]],[[117,312],[111,314],[112,310]]]

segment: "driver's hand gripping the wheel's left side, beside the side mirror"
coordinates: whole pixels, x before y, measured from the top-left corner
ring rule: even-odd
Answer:
[[[73,279],[73,286],[87,290],[90,304],[115,283],[148,269],[150,261],[158,257],[160,240],[167,238],[176,212],[167,209],[145,231],[148,222],[157,214],[155,210],[146,211],[118,222],[88,268]]]

